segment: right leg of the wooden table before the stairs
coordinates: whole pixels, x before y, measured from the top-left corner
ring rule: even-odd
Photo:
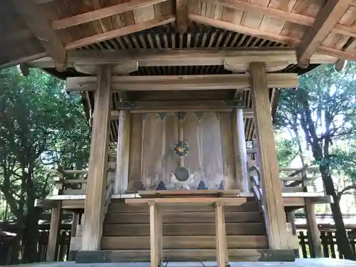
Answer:
[[[216,261],[218,267],[229,266],[227,251],[224,206],[215,204]]]

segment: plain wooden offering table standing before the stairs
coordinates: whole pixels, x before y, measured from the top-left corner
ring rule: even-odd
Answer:
[[[218,267],[229,264],[229,256],[226,244],[225,214],[224,206],[239,206],[246,202],[244,197],[216,197],[202,193],[185,192],[164,192],[162,197],[157,198],[157,194],[142,194],[145,198],[126,199],[127,204],[147,204],[150,207],[150,248],[151,248],[151,267],[157,267],[162,263],[162,206],[164,204],[201,204],[212,205],[215,209],[215,235],[216,235],[216,261]],[[164,195],[164,197],[163,197]],[[177,197],[179,195],[179,197]],[[154,196],[154,197],[150,197]]]

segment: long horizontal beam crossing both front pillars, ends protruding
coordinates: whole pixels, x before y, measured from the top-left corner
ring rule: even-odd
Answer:
[[[269,88],[295,88],[298,86],[296,73],[268,73],[266,82]],[[67,78],[66,90],[96,90],[97,77]],[[153,76],[112,76],[111,90],[248,90],[247,74],[219,75],[153,75]]]

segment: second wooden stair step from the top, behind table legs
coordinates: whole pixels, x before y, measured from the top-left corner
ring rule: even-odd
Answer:
[[[214,212],[165,212],[163,214],[163,223],[166,224],[214,224],[214,221]],[[263,218],[259,211],[225,212],[225,221],[226,223],[263,222]],[[105,224],[148,224],[149,222],[150,216],[147,213],[109,212],[105,216]]]

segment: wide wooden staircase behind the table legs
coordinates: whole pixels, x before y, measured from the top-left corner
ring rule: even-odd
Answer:
[[[216,261],[212,206],[164,206],[164,261]],[[268,248],[263,216],[253,198],[225,207],[230,261],[253,261]],[[101,250],[115,261],[150,261],[150,216],[147,206],[112,199],[105,216]]]

